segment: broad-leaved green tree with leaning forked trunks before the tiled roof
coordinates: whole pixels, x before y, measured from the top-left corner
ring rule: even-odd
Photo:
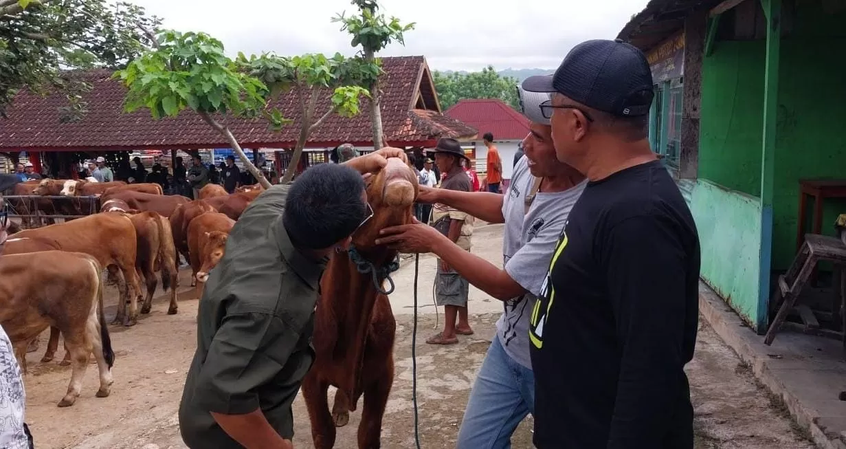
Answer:
[[[195,111],[227,139],[244,166],[265,188],[270,187],[270,182],[244,154],[221,116],[264,118],[273,130],[279,130],[290,120],[272,107],[273,101],[283,91],[296,89],[303,119],[292,169],[283,178],[287,182],[293,179],[293,168],[311,131],[331,114],[359,113],[359,98],[367,95],[361,84],[372,73],[366,64],[341,55],[282,58],[264,53],[247,58],[239,53],[233,60],[225,55],[222,42],[205,33],[168,30],[159,34],[155,42],[155,49],[115,73],[129,89],[127,111],[148,108],[154,119],[176,116],[186,108]],[[317,100],[327,93],[332,106],[315,119]]]

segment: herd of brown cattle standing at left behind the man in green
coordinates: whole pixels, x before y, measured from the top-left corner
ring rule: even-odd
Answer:
[[[205,281],[222,258],[235,220],[260,193],[260,186],[228,194],[221,186],[208,185],[192,201],[165,196],[157,184],[36,180],[16,185],[14,195],[7,197],[15,212],[70,216],[63,223],[48,218],[43,227],[10,225],[8,230],[0,258],[0,322],[21,369],[26,372],[30,342],[49,327],[50,340],[41,361],[52,360],[61,333],[62,364],[72,365],[68,392],[59,407],[73,405],[80,396],[92,352],[100,374],[96,396],[108,396],[114,352],[103,314],[103,269],[118,285],[113,324],[135,324],[139,301],[140,313],[150,313],[157,274],[163,289],[170,291],[168,314],[177,313],[179,254],[190,262],[191,285]],[[91,207],[98,201],[99,212]],[[40,217],[30,214],[21,222],[29,227],[36,219]],[[140,280],[146,285],[146,297]]]

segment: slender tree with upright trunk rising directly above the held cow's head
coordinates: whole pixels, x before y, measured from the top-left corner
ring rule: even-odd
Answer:
[[[364,58],[366,64],[372,64],[376,68],[378,75],[382,72],[382,69],[380,69],[379,61],[376,59],[376,53],[382,51],[394,41],[405,45],[404,33],[414,30],[415,24],[403,25],[399,23],[399,19],[396,17],[386,19],[385,14],[376,14],[376,10],[379,8],[376,0],[353,0],[352,3],[359,8],[360,15],[346,17],[344,12],[338,14],[337,17],[332,19],[332,22],[343,24],[341,30],[346,30],[353,36],[350,45],[361,47],[361,57]],[[378,76],[370,81],[367,88],[371,92],[373,147],[385,147],[387,141],[382,131],[382,109],[380,106],[382,91],[379,90]]]

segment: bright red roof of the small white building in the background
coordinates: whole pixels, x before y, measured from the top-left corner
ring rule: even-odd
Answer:
[[[520,140],[529,134],[529,119],[495,98],[460,100],[444,114],[474,127],[479,136],[492,133],[496,141]]]

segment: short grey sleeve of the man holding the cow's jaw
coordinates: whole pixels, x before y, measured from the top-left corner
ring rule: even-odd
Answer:
[[[511,279],[536,297],[541,295],[541,285],[547,278],[549,261],[558,246],[560,235],[560,228],[544,226],[535,238],[520,247],[505,264],[505,272]]]

